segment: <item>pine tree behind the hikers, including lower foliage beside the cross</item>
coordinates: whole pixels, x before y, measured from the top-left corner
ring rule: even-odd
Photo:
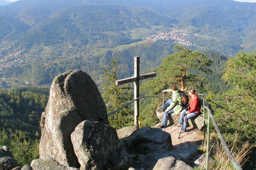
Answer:
[[[198,75],[192,74],[191,70],[199,70],[209,73],[209,66],[212,61],[199,51],[192,51],[182,46],[174,46],[175,51],[179,51],[167,56],[162,60],[162,65],[157,68],[157,77],[142,84],[142,89],[149,96],[158,95],[171,85],[178,85],[181,91],[186,91],[189,87],[196,88],[198,92],[208,90],[207,80]],[[166,98],[165,98],[166,99]],[[157,117],[154,116],[155,109],[162,104],[159,98],[151,99],[140,112],[140,117],[144,125],[154,125]]]

